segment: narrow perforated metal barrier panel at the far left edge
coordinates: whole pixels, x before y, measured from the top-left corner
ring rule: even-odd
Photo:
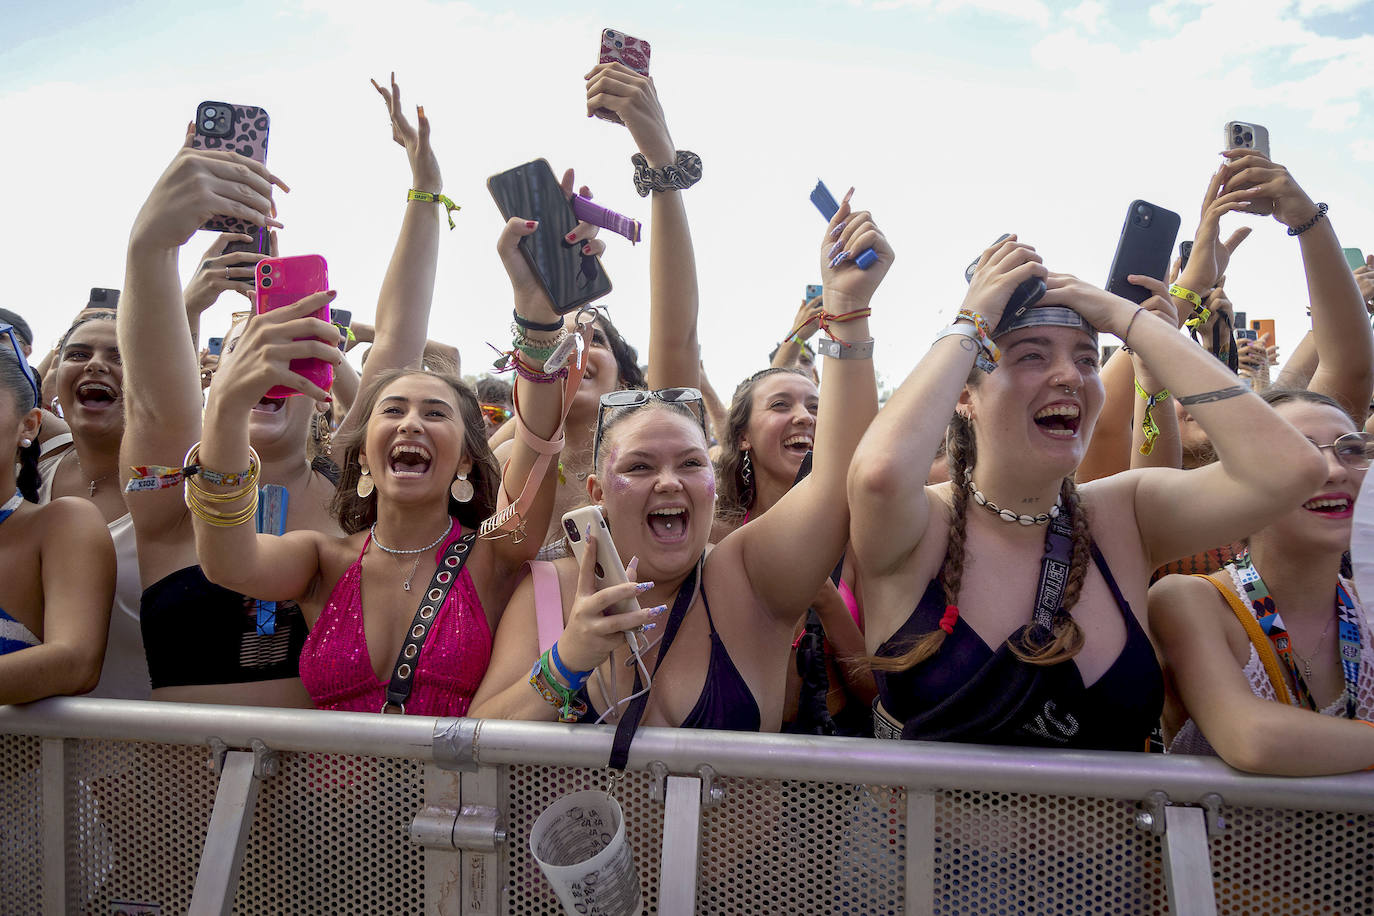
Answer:
[[[0,909],[43,912],[43,742],[0,736]]]

